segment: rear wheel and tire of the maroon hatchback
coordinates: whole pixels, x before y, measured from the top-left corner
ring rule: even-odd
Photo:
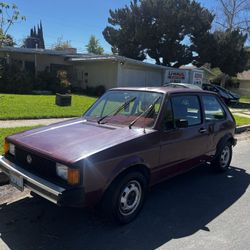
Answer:
[[[220,172],[227,171],[232,160],[232,154],[232,144],[230,142],[224,143],[218,148],[216,157],[212,161],[212,166]]]

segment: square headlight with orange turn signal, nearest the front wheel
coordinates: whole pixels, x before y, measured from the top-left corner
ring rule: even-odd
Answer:
[[[71,169],[61,163],[56,163],[56,174],[68,181],[70,185],[76,185],[80,182],[80,170],[79,169]]]

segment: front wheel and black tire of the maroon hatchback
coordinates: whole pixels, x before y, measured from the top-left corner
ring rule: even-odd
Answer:
[[[107,190],[102,209],[118,224],[134,220],[143,207],[148,189],[146,176],[133,171],[118,177]]]

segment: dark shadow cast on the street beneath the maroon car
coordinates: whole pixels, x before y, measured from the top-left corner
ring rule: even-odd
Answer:
[[[200,167],[154,187],[139,217],[116,226],[94,211],[25,198],[0,206],[0,233],[10,249],[155,249],[192,235],[235,203],[250,175]]]

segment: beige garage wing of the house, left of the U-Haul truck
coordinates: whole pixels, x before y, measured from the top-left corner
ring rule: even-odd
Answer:
[[[130,58],[115,55],[67,56],[73,65],[75,84],[87,86],[103,85],[108,88],[125,86],[160,86],[165,68]]]

